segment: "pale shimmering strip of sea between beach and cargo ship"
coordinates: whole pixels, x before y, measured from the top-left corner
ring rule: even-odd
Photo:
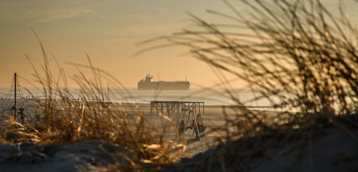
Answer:
[[[151,101],[186,101],[186,102],[204,102],[205,105],[217,106],[237,106],[237,101],[233,100],[231,96],[239,100],[240,103],[252,107],[262,108],[265,110],[274,109],[273,106],[281,105],[281,102],[276,97],[271,97],[274,102],[268,99],[261,98],[256,100],[261,94],[254,89],[246,88],[233,88],[230,89],[230,94],[223,88],[196,88],[191,87],[189,90],[137,90],[137,88],[129,87],[123,88],[110,88],[109,97],[104,98],[104,101],[114,101],[122,103],[150,103]],[[69,88],[72,99],[81,99],[80,88]],[[42,88],[21,88],[17,91],[24,98],[45,98]],[[107,89],[104,88],[103,92],[106,93]],[[10,87],[0,87],[0,96],[3,98],[14,94],[11,92]],[[94,101],[96,98],[87,97],[87,99]]]

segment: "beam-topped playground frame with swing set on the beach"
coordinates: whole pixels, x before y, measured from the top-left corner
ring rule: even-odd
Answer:
[[[151,101],[151,114],[155,112],[156,114],[172,114],[177,116],[176,131],[178,131],[177,129],[181,121],[180,119],[184,121],[184,131],[181,136],[182,140],[185,139],[186,128],[189,126],[189,119],[190,124],[193,120],[195,122],[192,136],[194,135],[194,132],[196,132],[196,135],[199,137],[199,141],[201,141],[200,133],[204,133],[206,136],[206,126],[204,125],[203,120],[204,110],[204,102]],[[196,117],[195,114],[197,114]],[[202,123],[202,127],[198,126],[198,121]]]

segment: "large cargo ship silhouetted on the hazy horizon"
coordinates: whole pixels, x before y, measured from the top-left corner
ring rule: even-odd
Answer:
[[[140,80],[138,82],[138,90],[188,90],[190,87],[190,83],[186,79],[185,82],[153,82],[152,79],[153,75],[148,74],[145,80]]]

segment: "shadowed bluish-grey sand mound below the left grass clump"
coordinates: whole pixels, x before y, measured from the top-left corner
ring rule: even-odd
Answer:
[[[128,155],[130,153],[121,146],[100,141],[56,145],[2,144],[0,145],[0,171],[100,171],[114,163],[128,165],[128,161],[124,158]]]

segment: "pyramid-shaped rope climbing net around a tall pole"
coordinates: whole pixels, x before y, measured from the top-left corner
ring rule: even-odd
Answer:
[[[9,92],[5,98],[1,97],[0,121],[7,120],[9,115],[14,115],[15,121],[19,123],[24,123],[24,119],[33,120],[33,111],[26,102],[16,73],[12,79]]]

